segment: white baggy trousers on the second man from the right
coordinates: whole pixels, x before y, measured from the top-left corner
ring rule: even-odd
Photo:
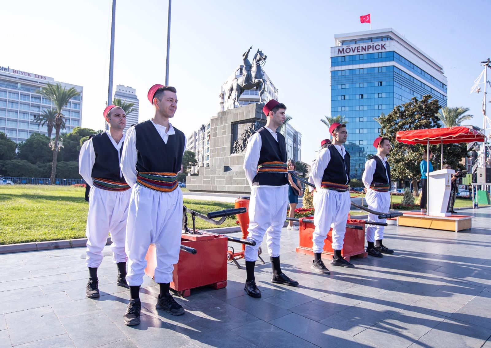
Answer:
[[[316,193],[314,212],[315,229],[312,234],[314,253],[322,253],[327,233],[332,227],[332,249],[343,248],[346,221],[350,213],[350,192],[338,192],[321,188]]]

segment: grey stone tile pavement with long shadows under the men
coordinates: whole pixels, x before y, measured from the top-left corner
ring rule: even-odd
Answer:
[[[251,298],[245,269],[229,265],[225,289],[178,299],[180,317],[155,310],[158,286],[145,277],[133,327],[109,247],[96,299],[85,297],[84,248],[0,255],[0,348],[491,347],[491,214],[460,213],[475,216],[471,231],[389,226],[394,255],[355,258],[330,276],[310,271],[311,258],[294,251],[298,232],[284,229],[282,266],[298,288],[270,283],[269,263],[257,263],[263,296]]]

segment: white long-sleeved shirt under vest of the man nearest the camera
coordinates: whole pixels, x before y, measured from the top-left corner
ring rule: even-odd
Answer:
[[[150,120],[152,121],[152,120]],[[169,139],[169,135],[176,134],[174,131],[174,127],[169,123],[169,130],[166,132],[166,128],[162,125],[155,124],[152,121],[152,124],[155,126],[155,129],[161,136],[164,143],[167,143]],[[184,137],[184,151],[186,151],[186,145],[188,140],[186,136]],[[184,155],[184,152],[183,152]],[[123,146],[123,155],[121,156],[121,171],[123,172],[124,178],[128,185],[133,187],[136,184],[136,162],[138,161],[138,152],[136,151],[136,132],[135,127],[130,127],[128,133],[126,134],[126,141]]]

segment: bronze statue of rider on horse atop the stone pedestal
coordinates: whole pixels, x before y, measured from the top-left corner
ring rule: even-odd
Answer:
[[[264,79],[264,71],[262,69],[262,65],[266,63],[267,56],[263,54],[262,51],[257,50],[252,59],[252,63],[250,63],[247,57],[251,49],[252,46],[243,54],[244,69],[242,76],[235,78],[228,89],[227,100],[232,98],[232,93],[234,93],[234,107],[239,105],[239,98],[242,93],[244,93],[246,89],[250,90],[254,87],[257,87],[257,90],[259,91],[259,103],[268,102],[268,96],[265,94],[266,80]]]

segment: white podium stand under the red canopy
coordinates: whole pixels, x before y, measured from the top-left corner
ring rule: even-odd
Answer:
[[[431,172],[428,178],[428,215],[449,216],[447,213],[448,198],[452,186],[453,169],[441,169]]]

